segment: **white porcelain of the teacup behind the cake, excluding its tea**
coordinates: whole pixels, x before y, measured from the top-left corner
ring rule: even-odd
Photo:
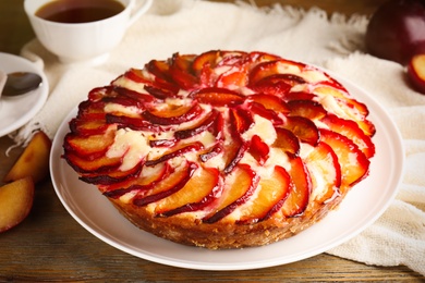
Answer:
[[[124,10],[105,20],[87,23],[58,23],[36,15],[52,0],[25,0],[24,9],[41,45],[62,63],[104,62],[122,40],[125,30],[153,3],[153,0],[117,0]],[[141,2],[141,3],[139,3]]]

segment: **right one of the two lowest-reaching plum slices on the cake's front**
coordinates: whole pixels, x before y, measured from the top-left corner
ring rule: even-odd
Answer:
[[[291,179],[282,167],[275,167],[269,179],[262,179],[258,194],[248,207],[241,208],[241,220],[238,223],[251,224],[260,222],[276,213],[286,201],[291,186]]]

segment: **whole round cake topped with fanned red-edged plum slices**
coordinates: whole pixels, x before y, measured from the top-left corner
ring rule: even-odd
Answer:
[[[63,158],[139,229],[211,249],[290,237],[368,174],[367,107],[265,52],[174,53],[89,91]]]

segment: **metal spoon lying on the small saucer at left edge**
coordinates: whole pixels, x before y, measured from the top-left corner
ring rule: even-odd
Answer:
[[[4,88],[1,96],[20,96],[38,88],[41,85],[41,77],[29,72],[14,72],[7,75]]]

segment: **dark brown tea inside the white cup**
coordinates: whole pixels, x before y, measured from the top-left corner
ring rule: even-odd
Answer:
[[[57,23],[78,24],[108,19],[124,9],[117,0],[56,0],[40,7],[35,15]]]

